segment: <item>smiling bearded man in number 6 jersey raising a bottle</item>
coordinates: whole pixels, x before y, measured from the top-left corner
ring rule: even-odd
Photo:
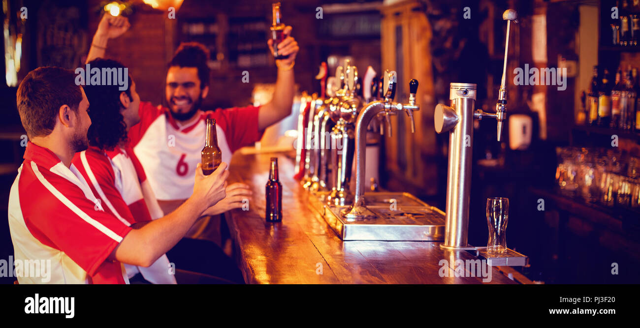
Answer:
[[[105,14],[93,36],[87,61],[104,56],[110,38],[122,35],[129,27],[125,17]],[[218,146],[223,162],[233,152],[259,141],[264,130],[291,114],[294,97],[294,72],[298,43],[291,37],[291,26],[284,29],[285,39],[278,43],[278,53],[288,56],[276,60],[278,76],[271,102],[260,107],[234,107],[202,111],[200,105],[209,93],[209,51],[200,43],[182,43],[168,65],[165,100],[168,107],[140,104],[140,123],[129,130],[131,146],[147,172],[147,178],[164,212],[170,212],[188,198],[193,189],[189,176],[200,163],[205,143],[205,119],[216,120]],[[273,41],[268,40],[273,52]],[[239,79],[241,77],[238,77]],[[243,206],[251,191],[247,185],[234,184],[227,198],[207,214],[215,215]],[[200,221],[189,233],[200,238],[211,235],[211,224]],[[211,236],[204,237],[209,238]]]

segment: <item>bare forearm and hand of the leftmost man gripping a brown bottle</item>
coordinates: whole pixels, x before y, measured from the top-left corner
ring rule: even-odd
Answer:
[[[148,267],[177,244],[196,219],[208,207],[225,198],[228,171],[226,163],[209,176],[196,168],[193,194],[179,208],[168,215],[131,230],[111,253],[112,260]]]

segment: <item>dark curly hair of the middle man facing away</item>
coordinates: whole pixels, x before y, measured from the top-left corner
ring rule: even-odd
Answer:
[[[113,59],[97,58],[89,62],[92,70],[99,68],[125,68],[122,63]],[[118,143],[127,141],[127,124],[120,113],[123,109],[120,102],[120,93],[124,92],[131,97],[131,76],[127,76],[129,84],[127,90],[119,90],[116,85],[86,85],[84,93],[89,100],[89,117],[91,126],[87,132],[89,144],[103,150],[113,150]]]

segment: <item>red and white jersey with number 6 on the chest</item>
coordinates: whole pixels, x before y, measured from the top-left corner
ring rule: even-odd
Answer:
[[[129,139],[157,199],[186,199],[193,193],[195,169],[202,160],[200,152],[205,143],[206,118],[216,120],[222,161],[228,164],[233,152],[262,137],[259,110],[248,106],[205,111],[182,127],[168,108],[141,102],[140,123],[129,129]]]

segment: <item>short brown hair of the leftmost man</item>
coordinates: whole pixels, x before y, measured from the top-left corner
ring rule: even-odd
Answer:
[[[20,82],[16,95],[22,127],[27,136],[48,136],[56,126],[62,105],[77,111],[82,91],[74,72],[61,67],[39,67]]]

